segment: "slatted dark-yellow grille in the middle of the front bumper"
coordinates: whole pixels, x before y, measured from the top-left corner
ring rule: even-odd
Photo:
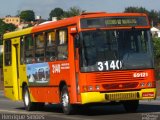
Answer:
[[[134,100],[139,98],[138,92],[132,93],[110,93],[105,95],[105,99],[109,101],[114,100]]]

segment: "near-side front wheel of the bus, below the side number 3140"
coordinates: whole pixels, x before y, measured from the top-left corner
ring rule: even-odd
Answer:
[[[61,106],[64,114],[70,115],[75,113],[73,105],[70,104],[70,97],[67,86],[63,86],[61,90]]]

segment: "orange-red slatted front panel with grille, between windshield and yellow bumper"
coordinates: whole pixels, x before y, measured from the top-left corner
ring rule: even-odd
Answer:
[[[135,89],[139,83],[146,80],[145,77],[134,77],[134,73],[142,72],[137,70],[128,71],[110,71],[110,72],[97,72],[87,74],[87,85],[100,85],[101,91],[122,90],[122,89]]]

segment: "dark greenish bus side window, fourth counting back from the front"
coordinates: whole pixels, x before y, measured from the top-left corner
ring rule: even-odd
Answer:
[[[34,40],[31,35],[24,37],[25,43],[25,63],[33,63],[34,60]]]

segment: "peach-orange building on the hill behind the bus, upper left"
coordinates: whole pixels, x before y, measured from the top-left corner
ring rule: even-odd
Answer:
[[[7,24],[12,23],[15,26],[19,26],[20,25],[20,17],[14,17],[14,16],[6,16],[5,18],[3,18],[3,21]]]

